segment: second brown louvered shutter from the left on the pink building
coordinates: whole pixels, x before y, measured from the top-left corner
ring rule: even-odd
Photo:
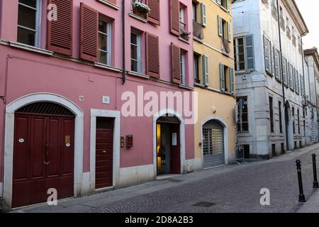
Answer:
[[[80,57],[98,61],[99,11],[81,3]]]

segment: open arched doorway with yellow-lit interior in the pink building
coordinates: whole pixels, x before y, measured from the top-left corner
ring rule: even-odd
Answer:
[[[180,124],[168,114],[157,119],[157,176],[181,173]]]

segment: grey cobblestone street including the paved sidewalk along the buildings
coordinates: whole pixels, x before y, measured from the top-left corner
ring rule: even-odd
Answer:
[[[296,159],[301,159],[303,165],[303,187],[308,199],[315,192],[311,154],[319,155],[318,148],[313,145],[273,160],[218,167],[135,189],[96,194],[96,198],[65,201],[55,208],[39,206],[19,212],[296,212],[302,205],[298,203]],[[262,188],[270,190],[270,206],[259,203]],[[194,206],[198,202],[215,205]]]

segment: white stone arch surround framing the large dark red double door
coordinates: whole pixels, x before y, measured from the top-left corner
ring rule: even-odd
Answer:
[[[79,196],[82,192],[82,176],[83,176],[83,126],[84,126],[84,113],[74,102],[66,99],[63,96],[52,93],[34,93],[11,101],[6,105],[6,124],[4,133],[4,210],[10,211],[13,201],[13,150],[15,141],[15,126],[16,114],[23,106],[35,104],[39,102],[49,102],[58,104],[74,114],[74,184],[72,196]],[[21,113],[23,114],[23,113]],[[65,139],[65,138],[64,138]],[[23,141],[23,140],[21,140]],[[24,141],[23,141],[24,142]],[[19,141],[18,141],[19,143]],[[71,145],[71,144],[70,144]]]

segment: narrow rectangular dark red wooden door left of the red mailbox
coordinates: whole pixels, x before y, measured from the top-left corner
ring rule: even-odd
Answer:
[[[96,189],[113,186],[113,118],[96,118]]]

